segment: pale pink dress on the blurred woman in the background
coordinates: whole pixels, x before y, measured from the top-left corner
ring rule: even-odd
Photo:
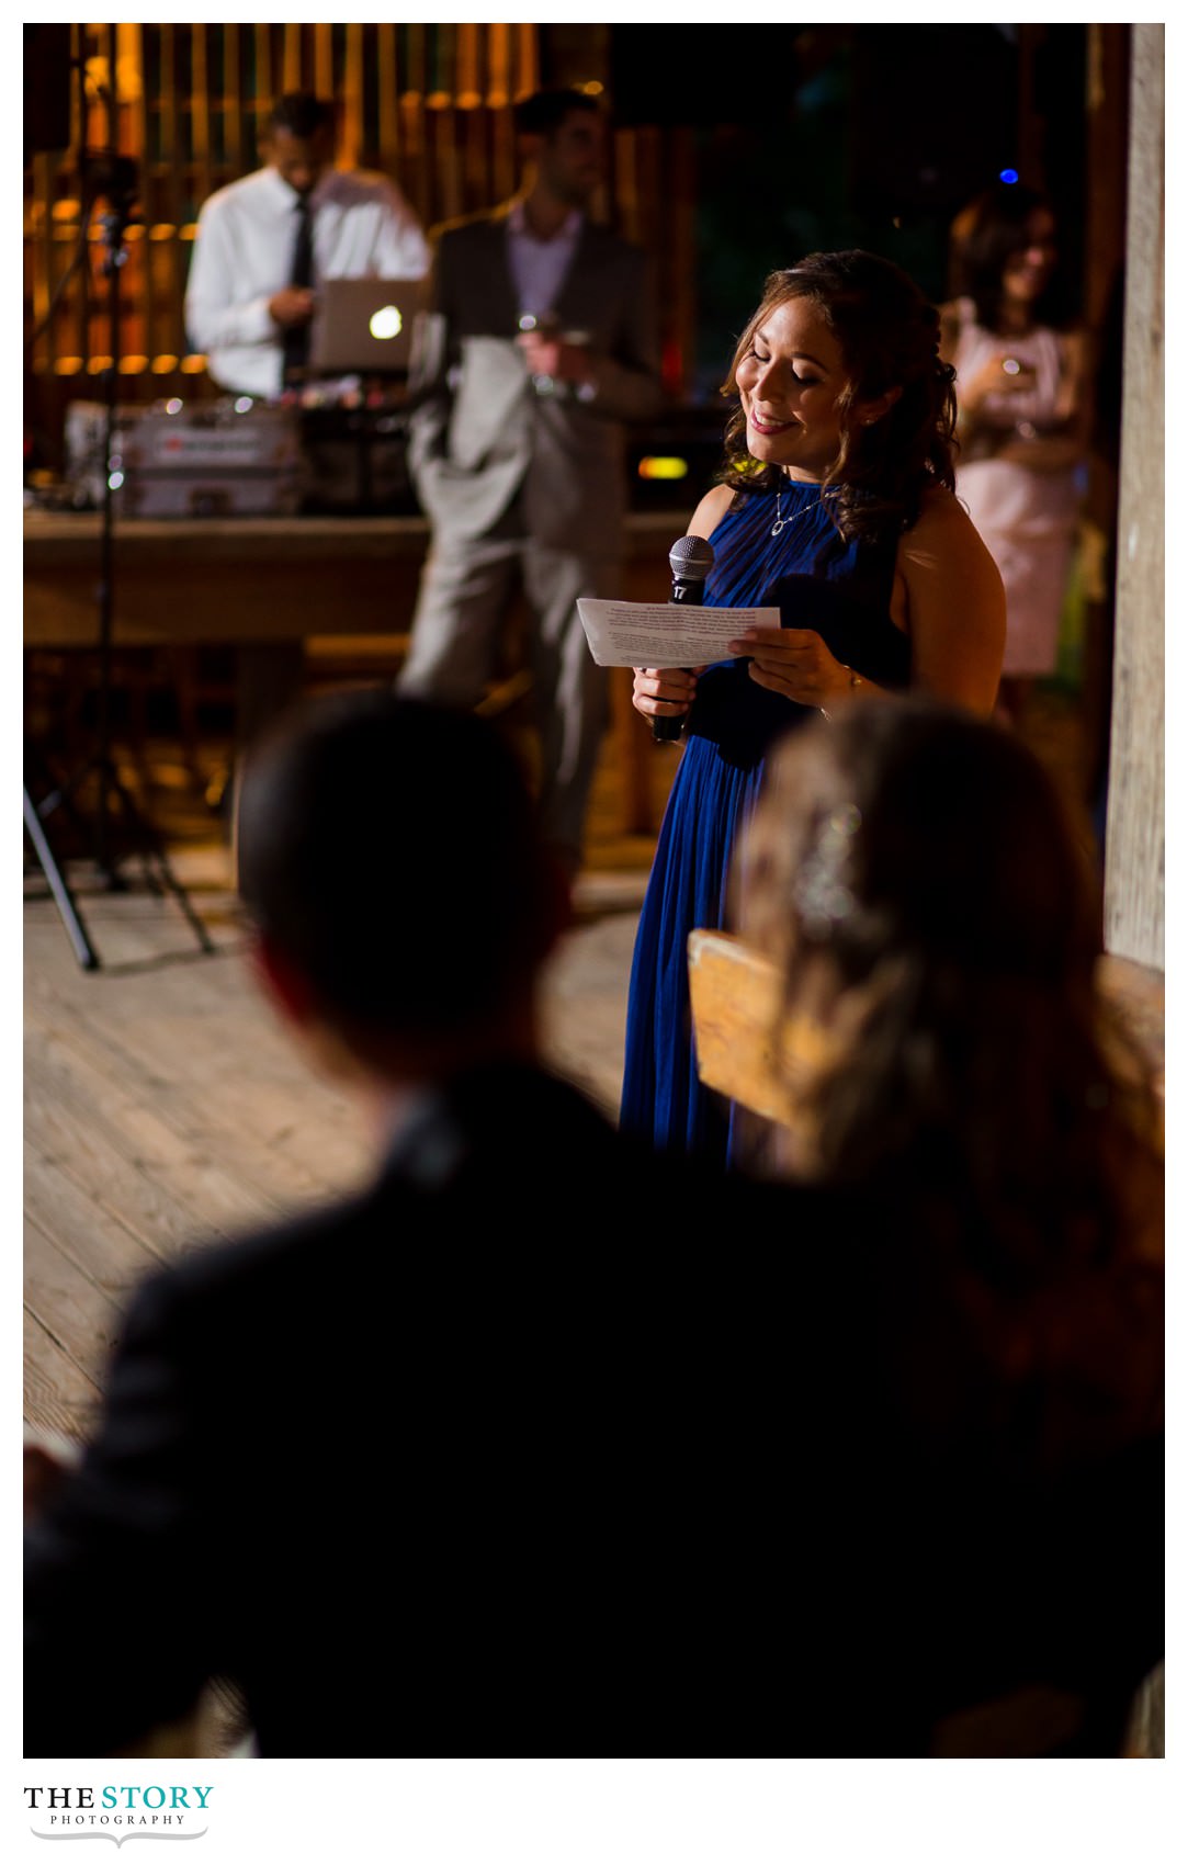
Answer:
[[[979,459],[979,442],[992,431],[1020,438],[1050,433],[1059,420],[1065,375],[1056,330],[1037,326],[1026,338],[1003,338],[974,321],[970,298],[957,302],[960,334],[953,352],[957,397],[960,379],[990,356],[1009,351],[1035,369],[1035,384],[1015,394],[987,395],[979,427],[957,455],[957,496],[1002,571],[1007,589],[1007,647],[1003,673],[1052,673],[1059,645],[1059,617],[1069,582],[1080,494],[1076,468],[1031,472],[1018,461]]]

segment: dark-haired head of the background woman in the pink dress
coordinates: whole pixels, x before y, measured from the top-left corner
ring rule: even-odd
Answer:
[[[949,231],[953,297],[972,298],[985,330],[1003,328],[1015,313],[1037,325],[1065,325],[1057,274],[1056,214],[1037,188],[996,181]]]

